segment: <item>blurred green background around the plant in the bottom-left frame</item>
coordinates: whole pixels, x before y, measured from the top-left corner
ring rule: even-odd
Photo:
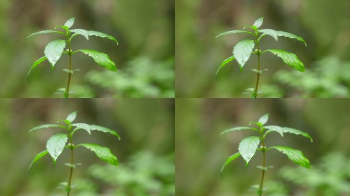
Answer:
[[[65,195],[56,189],[68,180],[69,151],[56,165],[50,156],[28,166],[45,150],[46,141],[59,129],[28,130],[55,124],[72,111],[75,122],[101,125],[110,134],[76,132],[74,142],[97,143],[110,148],[118,167],[109,165],[84,148],[76,149],[72,195],[146,196],[174,195],[174,100],[173,99],[0,99],[0,195]]]

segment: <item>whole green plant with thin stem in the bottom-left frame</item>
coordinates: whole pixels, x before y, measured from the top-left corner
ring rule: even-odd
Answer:
[[[70,191],[72,189],[71,182],[72,182],[73,169],[77,165],[81,165],[80,163],[76,163],[76,164],[74,163],[74,149],[78,148],[79,146],[84,146],[86,149],[93,151],[98,158],[100,158],[101,160],[103,160],[107,163],[110,163],[110,164],[116,165],[116,166],[118,166],[118,164],[119,164],[117,157],[115,157],[112,154],[111,150],[106,148],[106,147],[103,147],[103,146],[100,146],[100,145],[97,145],[94,143],[80,143],[77,145],[75,145],[73,143],[74,133],[78,130],[81,130],[81,129],[86,130],[89,134],[91,134],[91,131],[101,131],[104,133],[110,133],[112,135],[117,136],[118,139],[120,140],[119,134],[111,129],[108,129],[108,128],[105,128],[102,126],[98,126],[98,125],[88,125],[88,124],[84,124],[84,123],[72,124],[72,122],[76,118],[76,115],[77,115],[77,112],[72,112],[71,114],[68,115],[68,117],[66,119],[57,120],[57,124],[41,125],[41,126],[34,127],[33,129],[29,130],[29,132],[31,132],[31,131],[38,130],[38,129],[59,127],[59,128],[64,129],[65,131],[68,131],[68,134],[59,133],[59,134],[51,136],[49,138],[49,140],[47,141],[46,150],[37,154],[29,166],[29,170],[30,170],[33,166],[33,163],[35,163],[36,161],[38,161],[40,158],[47,155],[48,153],[52,157],[52,160],[53,160],[54,165],[55,165],[57,158],[63,152],[63,150],[70,149],[71,150],[71,162],[64,164],[64,165],[70,167],[69,180],[68,180],[68,182],[60,183],[60,187],[64,187],[65,191],[67,191],[67,195],[70,194]],[[58,124],[59,122],[64,122],[64,124],[66,126],[59,125]],[[65,145],[65,143],[67,143],[68,139],[70,140],[70,143],[68,145]]]

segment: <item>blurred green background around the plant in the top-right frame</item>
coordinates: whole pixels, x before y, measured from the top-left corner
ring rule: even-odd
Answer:
[[[264,16],[262,29],[299,35],[276,42],[261,39],[261,50],[276,48],[295,53],[307,69],[294,71],[272,54],[261,58],[259,97],[349,97],[350,91],[350,2],[348,0],[177,0],[176,1],[176,96],[250,97],[242,94],[253,87],[257,58],[252,55],[239,71],[236,61],[227,64],[215,80],[215,71],[232,56],[234,45],[249,34],[214,37]],[[195,77],[193,77],[195,76]]]

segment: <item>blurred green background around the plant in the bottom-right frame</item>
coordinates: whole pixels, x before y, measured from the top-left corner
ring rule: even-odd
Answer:
[[[176,194],[191,196],[250,196],[258,184],[262,155],[257,152],[246,168],[242,158],[220,169],[238,150],[238,143],[254,131],[226,129],[248,126],[270,113],[266,125],[292,127],[309,133],[314,142],[297,135],[271,134],[268,146],[286,145],[301,150],[311,164],[304,169],[278,151],[269,151],[264,195],[350,195],[350,107],[347,99],[177,99]]]

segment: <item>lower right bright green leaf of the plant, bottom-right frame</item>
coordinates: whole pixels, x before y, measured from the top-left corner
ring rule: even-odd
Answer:
[[[270,149],[276,149],[277,151],[286,154],[288,158],[295,164],[308,169],[311,168],[309,160],[299,150],[295,150],[287,146],[272,146]]]

